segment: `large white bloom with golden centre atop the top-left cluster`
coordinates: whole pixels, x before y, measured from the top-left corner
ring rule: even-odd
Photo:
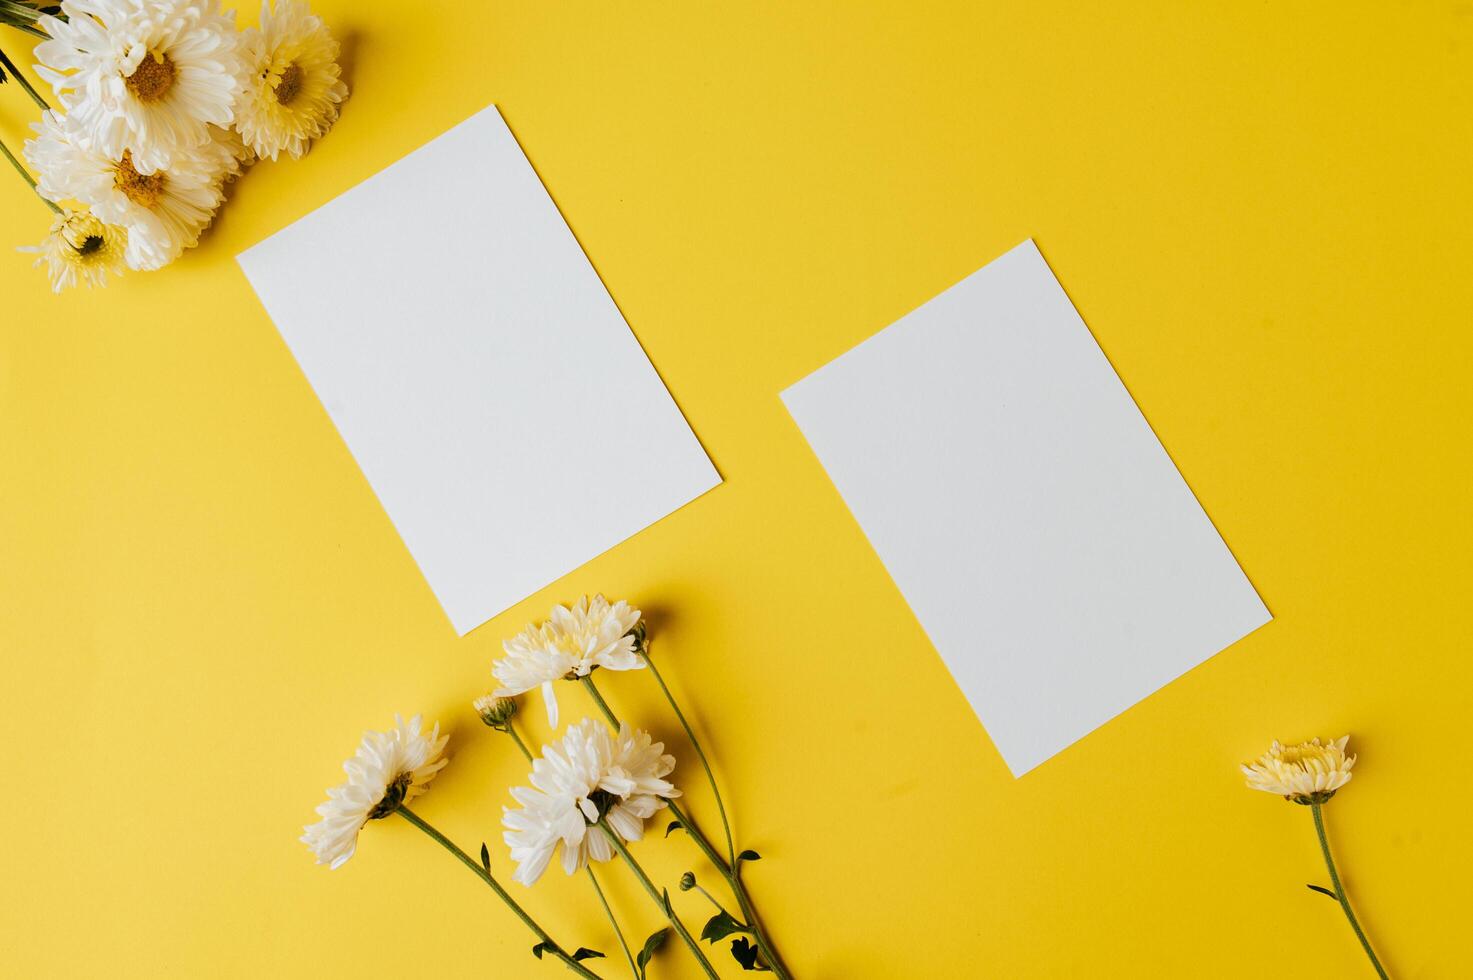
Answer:
[[[80,139],[140,174],[228,127],[245,84],[236,15],[218,0],[63,0],[43,16],[37,74],[56,88]]]

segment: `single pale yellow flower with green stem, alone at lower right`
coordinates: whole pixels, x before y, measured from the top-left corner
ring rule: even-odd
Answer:
[[[1355,918],[1351,899],[1345,893],[1345,884],[1340,881],[1340,874],[1335,867],[1335,858],[1330,855],[1330,840],[1324,833],[1323,806],[1330,802],[1340,787],[1351,781],[1351,768],[1355,765],[1355,756],[1345,755],[1345,746],[1349,743],[1349,735],[1342,735],[1323,746],[1318,738],[1311,738],[1295,746],[1284,746],[1274,741],[1273,747],[1256,760],[1243,763],[1242,771],[1248,777],[1248,787],[1251,790],[1273,793],[1290,803],[1309,808],[1309,812],[1314,815],[1314,833],[1320,839],[1320,853],[1324,855],[1324,867],[1330,872],[1333,890],[1320,889],[1318,886],[1311,887],[1317,892],[1329,892],[1340,903],[1340,909],[1351,924],[1351,931],[1355,933],[1361,949],[1365,951],[1371,967],[1376,968],[1376,976],[1382,980],[1389,980],[1386,968],[1382,967],[1370,939],[1365,936],[1365,930],[1361,928],[1360,921]]]

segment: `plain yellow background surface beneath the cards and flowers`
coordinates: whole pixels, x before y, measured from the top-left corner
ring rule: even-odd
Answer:
[[[524,765],[467,701],[600,589],[657,613],[800,977],[1367,976],[1308,812],[1234,769],[1345,731],[1368,930],[1398,977],[1473,970],[1473,7],[318,7],[340,124],[168,271],[52,296],[0,178],[0,973],[567,976],[402,821],[339,872],[296,836],[421,710],[454,759],[420,812],[510,875]],[[491,102],[726,482],[457,638],[233,256]],[[31,118],[0,90],[9,143]],[[1276,620],[1013,780],[778,392],[1028,236]],[[694,775],[648,676],[605,688]],[[517,887],[627,976],[582,881]]]

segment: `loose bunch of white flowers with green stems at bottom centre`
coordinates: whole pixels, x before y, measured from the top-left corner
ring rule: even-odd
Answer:
[[[716,906],[716,915],[706,923],[701,939],[716,942],[731,937],[731,955],[742,970],[770,971],[776,980],[791,980],[792,974],[762,925],[739,874],[744,861],[757,861],[760,855],[754,850],[739,853],[736,850],[726,819],[726,806],[722,803],[720,790],[716,785],[716,777],[711,775],[706,753],[670,696],[658,668],[650,659],[650,637],[639,610],[630,607],[629,603],[610,603],[602,595],[585,597],[572,606],[555,606],[545,622],[527,626],[502,647],[505,657],[492,665],[492,673],[501,687],[491,694],[474,699],[471,707],[488,728],[508,735],[532,763],[532,772],[527,777],[530,785],[511,788],[511,799],[517,806],[502,806],[501,825],[504,833],[501,837],[516,864],[511,877],[524,886],[536,884],[554,861],[558,861],[563,871],[570,875],[586,871],[600,905],[619,933],[619,942],[629,965],[636,976],[642,977],[645,965],[670,930],[661,928],[650,936],[639,955],[635,956],[619,928],[613,906],[598,884],[602,872],[595,874],[592,867],[594,862],[611,861],[619,856],[664,914],[675,934],[681,937],[706,976],[714,977],[716,970],[706,952],[670,905],[669,889],[661,892],[651,881],[627,846],[644,839],[645,821],[669,808],[675,816],[672,828],[679,827],[695,840],[701,852],[726,880],[745,920],[728,912],[716,897],[701,889],[701,893]],[[669,778],[675,772],[675,757],[664,753],[664,743],[655,741],[645,731],[620,722],[594,681],[594,672],[600,669],[632,671],[636,668],[648,668],[706,769],[707,783],[722,816],[722,830],[726,837],[725,858],[717,853],[710,839],[676,802],[676,797],[682,794]],[[607,724],[585,718],[570,725],[561,738],[545,744],[542,752],[533,757],[514,724],[517,696],[542,688],[548,718],[555,728],[557,699],[554,688],[558,681],[574,681],[586,687]],[[358,834],[368,821],[398,813],[455,855],[463,865],[474,871],[495,890],[496,896],[536,934],[539,942],[533,948],[533,953],[538,958],[549,955],[563,961],[573,973],[598,980],[598,974],[583,967],[580,961],[604,953],[583,946],[572,948],[570,952],[570,946],[557,943],[548,930],[539,925],[498,884],[492,871],[491,852],[485,843],[480,846],[480,862],[477,864],[474,858],[408,806],[408,802],[423,791],[430,777],[445,765],[445,760],[440,759],[443,746],[445,738],[439,737],[439,728],[423,734],[418,718],[408,725],[396,719],[396,728],[392,731],[365,734],[358,755],[343,765],[348,781],[327,791],[327,803],[317,808],[321,819],[305,828],[302,840],[317,855],[318,864],[337,868],[354,855]],[[686,871],[681,875],[679,889],[682,892],[700,886],[695,884],[694,872]]]

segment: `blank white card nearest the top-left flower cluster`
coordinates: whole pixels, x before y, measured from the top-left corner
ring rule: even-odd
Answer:
[[[239,261],[460,634],[720,482],[495,108]]]

